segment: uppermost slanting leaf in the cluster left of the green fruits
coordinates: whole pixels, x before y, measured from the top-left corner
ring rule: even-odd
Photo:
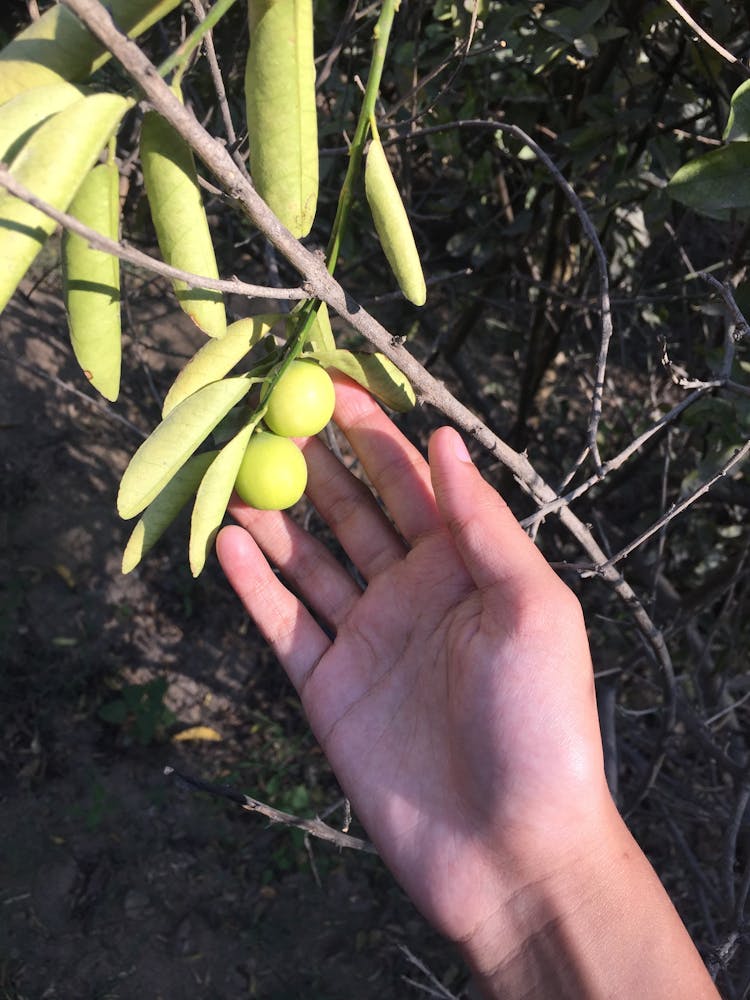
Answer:
[[[238,319],[227,327],[221,340],[209,340],[192,356],[164,400],[162,416],[168,416],[179,403],[196,389],[224,378],[281,319],[277,313]]]

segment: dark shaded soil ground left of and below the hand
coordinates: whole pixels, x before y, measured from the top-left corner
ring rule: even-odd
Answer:
[[[114,406],[54,295],[17,296],[1,329],[0,998],[423,996],[402,947],[460,994],[462,966],[378,859],[163,773],[305,815],[341,798],[215,562],[190,576],[185,525],[119,571],[117,484],[189,323],[151,304]],[[143,700],[123,714],[124,687]],[[204,738],[175,739],[192,727]]]

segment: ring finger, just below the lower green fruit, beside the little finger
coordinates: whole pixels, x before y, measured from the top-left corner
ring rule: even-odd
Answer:
[[[325,545],[281,511],[254,510],[233,496],[229,512],[307,606],[338,628],[362,591]]]

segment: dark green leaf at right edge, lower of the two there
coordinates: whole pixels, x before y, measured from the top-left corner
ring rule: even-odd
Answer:
[[[677,201],[714,219],[750,208],[750,142],[733,142],[686,163],[667,185]]]

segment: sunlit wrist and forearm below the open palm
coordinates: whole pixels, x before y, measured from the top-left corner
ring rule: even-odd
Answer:
[[[604,850],[514,895],[464,945],[483,996],[716,1000],[663,886],[612,813]]]

